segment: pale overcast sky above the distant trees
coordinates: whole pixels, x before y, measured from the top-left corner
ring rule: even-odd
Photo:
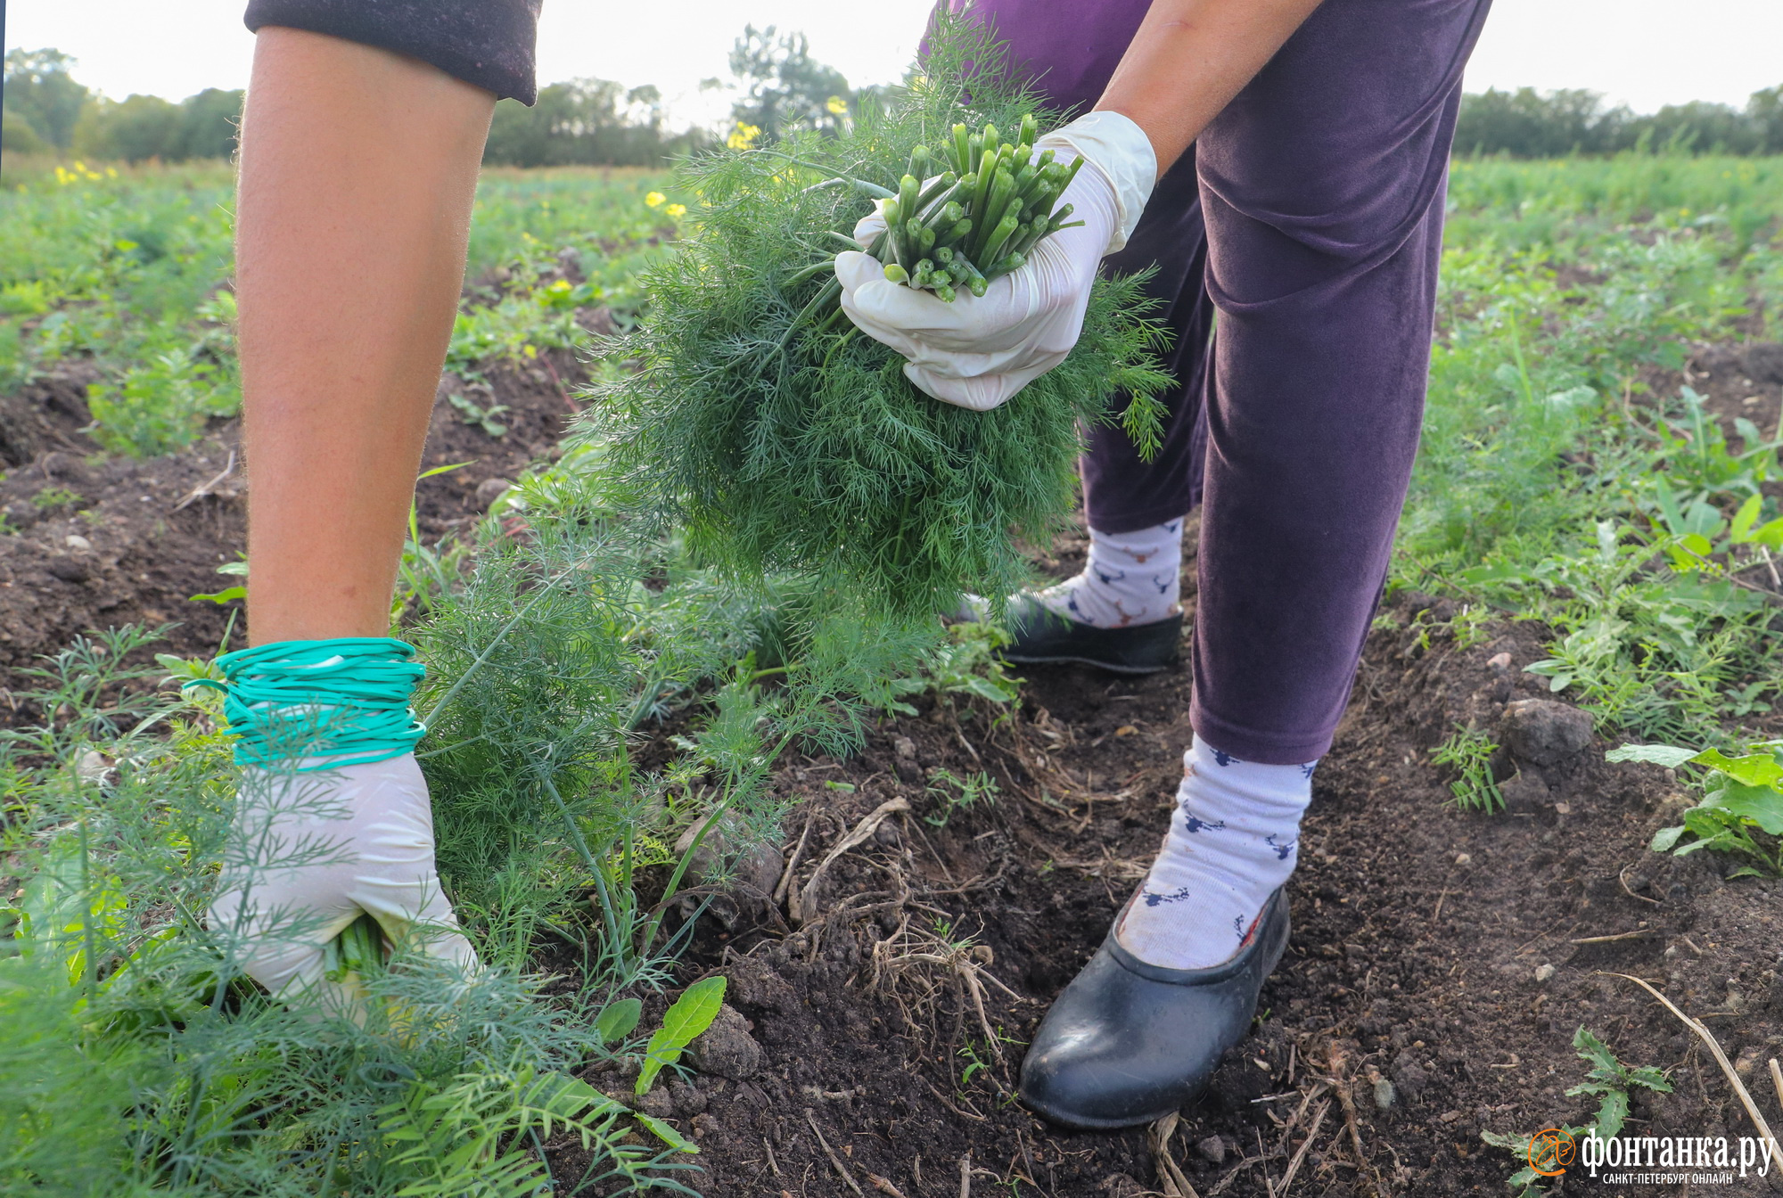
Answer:
[[[1077,0],[1059,0],[1061,7]],[[850,84],[888,82],[915,55],[931,0],[546,0],[538,78],[656,84],[683,119],[724,103],[699,80],[727,75],[744,21],[799,29]],[[11,0],[5,46],[55,46],[109,96],[178,100],[248,82],[244,0]],[[1635,111],[1683,100],[1742,103],[1783,84],[1779,0],[1498,0],[1467,89],[1590,87]]]

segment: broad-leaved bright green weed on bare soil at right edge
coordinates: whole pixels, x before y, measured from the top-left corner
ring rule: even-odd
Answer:
[[[1783,742],[1758,743],[1740,756],[1674,745],[1623,745],[1606,756],[1705,770],[1701,802],[1683,813],[1683,824],[1655,833],[1653,852],[1713,849],[1753,863],[1731,877],[1783,874]]]

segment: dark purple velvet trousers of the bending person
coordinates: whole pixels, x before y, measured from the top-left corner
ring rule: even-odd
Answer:
[[[1104,43],[1146,4],[979,7],[1043,89],[1088,107]],[[1161,266],[1180,453],[1141,465],[1098,430],[1086,508],[1104,531],[1155,524],[1205,471],[1191,722],[1246,761],[1321,756],[1350,695],[1417,449],[1460,71],[1487,7],[1325,0],[1204,130],[1198,207],[1173,169],[1111,262]]]

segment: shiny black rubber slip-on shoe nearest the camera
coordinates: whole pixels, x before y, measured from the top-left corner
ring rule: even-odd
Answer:
[[[1287,948],[1287,895],[1269,895],[1250,943],[1205,970],[1146,964],[1120,945],[1116,927],[1120,916],[1022,1061],[1022,1104],[1063,1127],[1152,1123],[1202,1093],[1245,1038],[1257,991]]]

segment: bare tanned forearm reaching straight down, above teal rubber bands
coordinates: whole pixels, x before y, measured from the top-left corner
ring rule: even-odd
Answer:
[[[251,644],[387,635],[492,109],[415,59],[259,32],[235,239]]]

